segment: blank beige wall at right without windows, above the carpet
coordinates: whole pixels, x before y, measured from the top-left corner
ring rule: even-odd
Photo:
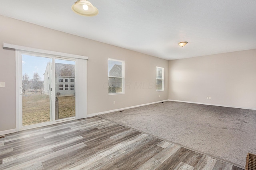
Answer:
[[[169,61],[169,99],[256,109],[256,49]]]

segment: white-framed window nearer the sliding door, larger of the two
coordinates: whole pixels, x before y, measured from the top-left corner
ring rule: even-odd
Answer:
[[[108,59],[108,94],[124,93],[124,61]]]

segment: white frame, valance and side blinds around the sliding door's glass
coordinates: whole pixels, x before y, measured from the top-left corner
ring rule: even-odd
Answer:
[[[22,109],[22,103],[20,102],[20,82],[22,82],[22,76],[20,76],[19,72],[22,72],[22,58],[20,55],[22,53],[26,53],[29,55],[39,55],[40,57],[49,57],[52,58],[52,64],[54,65],[54,59],[55,58],[62,58],[62,59],[72,59],[75,61],[81,61],[82,63],[86,64],[78,64],[76,66],[76,70],[80,71],[83,70],[83,73],[80,73],[78,78],[76,78],[76,91],[80,94],[78,98],[76,98],[76,116],[75,119],[82,119],[87,117],[87,60],[88,57],[86,56],[81,56],[81,55],[74,55],[74,54],[68,54],[68,53],[60,53],[56,51],[48,51],[48,50],[43,50],[43,49],[35,49],[35,48],[30,48],[30,47],[24,47],[20,45],[13,45],[13,44],[8,44],[4,43],[3,44],[4,49],[15,49],[16,50],[16,131],[24,130],[24,129],[31,129],[34,127],[40,127],[44,125],[51,125],[51,124],[56,124],[56,123],[61,123],[64,121],[70,121],[68,120],[63,120],[63,121],[55,121],[55,116],[52,116],[52,122],[46,123],[46,124],[34,124],[31,126],[22,127],[22,118],[20,117],[20,109]],[[82,59],[82,60],[81,60]],[[81,74],[83,76],[81,76]],[[52,75],[55,75],[55,70],[54,66],[52,69]],[[83,83],[83,84],[81,84]],[[52,76],[52,84],[55,85],[55,78]],[[55,112],[55,89],[52,88],[52,111]],[[52,115],[55,115],[52,113]],[[21,120],[21,121],[20,121]]]

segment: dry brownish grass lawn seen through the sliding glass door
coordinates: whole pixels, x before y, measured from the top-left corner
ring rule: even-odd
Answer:
[[[59,119],[75,116],[75,97],[59,97]],[[22,98],[22,124],[50,121],[50,99],[46,94],[26,94]],[[53,112],[54,114],[54,112]]]

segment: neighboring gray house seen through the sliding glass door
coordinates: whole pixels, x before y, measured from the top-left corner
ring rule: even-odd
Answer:
[[[44,94],[50,95],[50,64],[44,73]],[[55,63],[56,97],[75,96],[75,65]]]

